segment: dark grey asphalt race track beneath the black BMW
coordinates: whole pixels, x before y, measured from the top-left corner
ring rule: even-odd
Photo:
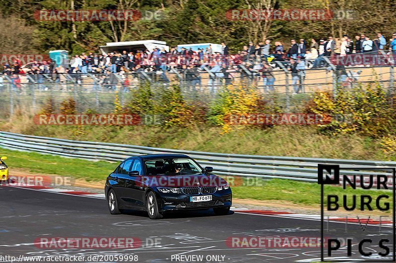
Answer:
[[[319,229],[319,221],[238,212],[214,216],[211,210],[172,214],[153,221],[142,212],[128,211],[123,215],[110,215],[103,199],[0,186],[0,257],[137,255],[137,262],[152,263],[210,260],[250,263],[317,262],[320,257],[318,247],[232,248],[227,246],[225,240],[233,236],[320,237]],[[345,224],[329,223],[329,229],[329,235],[344,234]],[[378,238],[389,236],[390,233],[392,228],[383,227],[379,232],[378,226],[368,226],[362,231],[361,225],[348,224],[345,234]],[[44,249],[35,244],[35,240],[41,237],[103,236],[138,237],[144,242],[141,247],[132,249]],[[147,240],[154,241],[148,245]],[[373,242],[373,249],[375,246]],[[356,246],[353,246],[352,251],[357,261],[363,259],[356,253]],[[189,255],[201,255],[203,260],[187,258]],[[332,255],[336,258],[345,256],[345,248]]]

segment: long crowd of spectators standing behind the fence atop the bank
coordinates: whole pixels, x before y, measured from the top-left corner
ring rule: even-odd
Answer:
[[[281,67],[292,75],[294,92],[301,91],[305,70],[307,68],[327,67],[325,57],[332,55],[346,56],[355,53],[396,53],[396,33],[391,39],[386,39],[381,33],[372,39],[365,34],[356,35],[353,38],[322,39],[292,39],[290,44],[269,39],[253,44],[249,42],[236,54],[231,54],[229,47],[222,42],[220,52],[214,52],[211,45],[205,49],[193,50],[192,48],[172,47],[169,51],[164,48],[154,48],[152,51],[136,50],[135,52],[114,51],[109,53],[82,53],[74,55],[67,67],[57,66],[55,62],[34,61],[29,67],[21,68],[18,60],[12,65],[4,65],[2,74],[8,75],[16,88],[20,88],[18,75],[30,76],[41,89],[45,89],[43,83],[46,78],[59,83],[67,79],[76,82],[88,75],[96,79],[95,83],[101,83],[108,89],[114,89],[115,85],[122,82],[124,91],[128,92],[130,85],[126,73],[138,73],[137,79],[145,77],[143,73],[154,73],[159,80],[169,82],[166,72],[177,73],[181,79],[187,81],[193,88],[201,85],[200,72],[209,73],[209,86],[218,85],[218,79],[224,84],[231,84],[237,77],[250,77],[262,80],[264,91],[272,91],[276,80],[275,67]],[[277,63],[280,62],[280,63]],[[281,67],[282,68],[282,67]],[[339,69],[344,71],[345,69]],[[142,74],[139,74],[142,73]],[[69,75],[69,76],[68,76]],[[345,76],[343,77],[345,78]],[[345,79],[341,78],[341,81]],[[0,79],[0,85],[1,85]]]

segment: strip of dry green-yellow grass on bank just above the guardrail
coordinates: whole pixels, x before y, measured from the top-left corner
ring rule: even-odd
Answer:
[[[316,158],[395,160],[379,140],[358,134],[330,137],[315,127],[284,125],[222,133],[221,127],[163,129],[158,126],[39,126],[26,117],[0,121],[0,130],[79,141],[97,141],[222,153]]]

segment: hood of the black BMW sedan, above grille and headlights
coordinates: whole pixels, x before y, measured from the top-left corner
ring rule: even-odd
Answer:
[[[142,183],[148,187],[202,187],[222,186],[227,182],[216,175],[193,174],[193,175],[157,175],[142,176]]]

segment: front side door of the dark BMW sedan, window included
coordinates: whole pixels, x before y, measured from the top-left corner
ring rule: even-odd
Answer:
[[[138,171],[139,175],[137,176],[128,176],[126,180],[126,189],[128,191],[128,195],[132,199],[131,202],[134,206],[143,208],[145,206],[144,198],[145,198],[145,189],[142,182],[142,174],[143,174],[143,165],[142,161],[139,159],[135,159],[133,165],[131,165],[130,171]]]

